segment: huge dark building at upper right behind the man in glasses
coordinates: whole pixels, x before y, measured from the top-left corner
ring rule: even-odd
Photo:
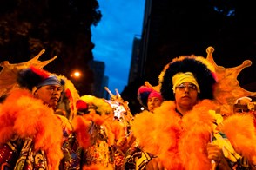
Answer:
[[[247,59],[253,62],[238,79],[241,86],[255,91],[250,85],[255,84],[255,76],[248,75],[256,73],[256,26],[250,22],[256,15],[236,3],[226,6],[226,11],[218,10],[218,5],[203,0],[145,0],[140,78],[157,85],[158,75],[172,58],[206,56],[205,49],[212,46],[214,60],[220,66],[232,68]],[[237,25],[249,25],[250,29]]]

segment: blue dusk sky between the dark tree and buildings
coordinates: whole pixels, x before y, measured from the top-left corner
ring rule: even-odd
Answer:
[[[91,26],[94,60],[105,63],[108,88],[115,95],[128,82],[132,42],[142,32],[145,0],[98,0],[102,18]]]

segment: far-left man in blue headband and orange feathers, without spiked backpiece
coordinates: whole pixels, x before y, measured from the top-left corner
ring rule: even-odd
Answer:
[[[54,114],[64,81],[30,67],[18,71],[17,84],[1,105],[1,169],[59,169],[71,132],[69,121]]]

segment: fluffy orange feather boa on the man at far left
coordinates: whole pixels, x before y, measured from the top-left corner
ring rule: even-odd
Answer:
[[[0,106],[0,143],[14,136],[33,139],[34,149],[45,151],[49,169],[58,169],[63,157],[61,123],[53,110],[28,90],[14,90]]]

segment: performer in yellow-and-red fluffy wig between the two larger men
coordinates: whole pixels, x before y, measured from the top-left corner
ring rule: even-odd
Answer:
[[[113,108],[104,98],[81,96],[72,125],[83,149],[83,169],[118,169],[116,142],[125,136],[125,127],[114,119]]]

